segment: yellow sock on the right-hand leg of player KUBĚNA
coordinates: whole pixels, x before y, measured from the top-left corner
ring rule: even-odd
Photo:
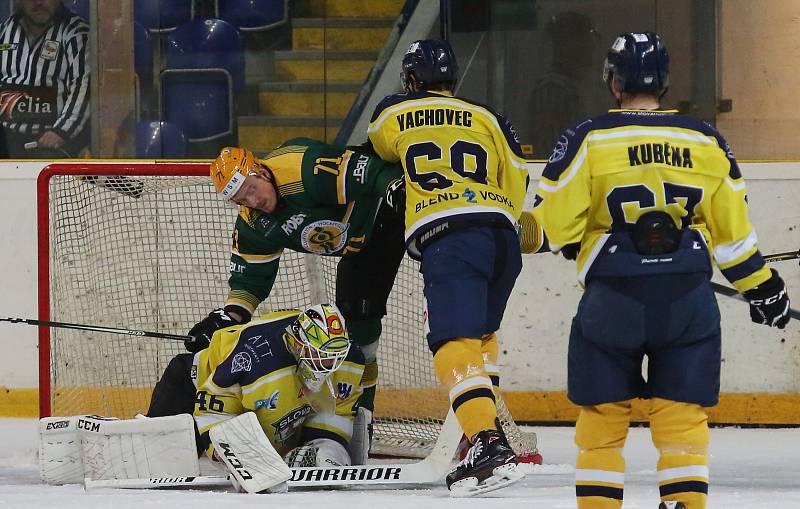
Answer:
[[[699,405],[654,398],[650,433],[659,450],[661,500],[705,509],[708,496],[708,414]]]

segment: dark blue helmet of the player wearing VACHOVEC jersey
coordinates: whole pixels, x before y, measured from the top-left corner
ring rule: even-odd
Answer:
[[[414,81],[423,87],[432,83],[455,84],[458,63],[450,43],[441,39],[412,42],[403,57],[403,71],[400,73],[403,90],[409,90],[412,74]]]

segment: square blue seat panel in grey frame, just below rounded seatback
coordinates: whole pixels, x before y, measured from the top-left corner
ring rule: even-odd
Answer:
[[[224,69],[161,72],[161,118],[180,126],[190,142],[233,134],[233,84]]]

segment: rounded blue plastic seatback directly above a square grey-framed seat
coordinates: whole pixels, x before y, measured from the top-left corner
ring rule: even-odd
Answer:
[[[224,69],[234,90],[244,87],[244,50],[239,30],[227,21],[198,18],[167,36],[167,69]]]

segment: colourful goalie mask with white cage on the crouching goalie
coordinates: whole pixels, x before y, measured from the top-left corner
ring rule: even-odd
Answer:
[[[286,348],[297,359],[297,375],[318,392],[339,369],[350,351],[350,338],[339,309],[332,304],[312,306],[286,327]],[[331,388],[331,394],[336,392]]]

